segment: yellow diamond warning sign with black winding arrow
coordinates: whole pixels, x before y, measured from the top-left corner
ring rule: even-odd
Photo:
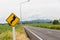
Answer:
[[[19,19],[14,13],[12,13],[12,14],[6,19],[6,21],[9,23],[9,25],[15,26],[15,25],[20,21],[20,19]]]

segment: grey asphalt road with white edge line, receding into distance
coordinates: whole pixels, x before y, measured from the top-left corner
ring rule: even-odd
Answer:
[[[24,26],[30,40],[60,40],[60,30]]]

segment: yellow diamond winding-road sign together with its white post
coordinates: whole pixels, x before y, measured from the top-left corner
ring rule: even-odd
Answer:
[[[13,40],[16,40],[16,33],[15,33],[15,25],[20,21],[20,19],[12,13],[6,21],[9,23],[10,26],[12,26],[12,32],[13,32]]]

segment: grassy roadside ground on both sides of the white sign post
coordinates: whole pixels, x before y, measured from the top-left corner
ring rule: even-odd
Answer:
[[[15,27],[16,40],[29,40],[20,24],[17,24]],[[12,27],[8,24],[0,24],[0,40],[12,40]]]

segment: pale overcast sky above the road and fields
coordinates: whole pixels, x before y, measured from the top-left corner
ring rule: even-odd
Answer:
[[[6,18],[14,13],[22,21],[34,19],[59,19],[60,0],[0,0],[0,20],[5,22]],[[25,3],[22,3],[25,2]],[[20,6],[21,5],[21,6]]]

